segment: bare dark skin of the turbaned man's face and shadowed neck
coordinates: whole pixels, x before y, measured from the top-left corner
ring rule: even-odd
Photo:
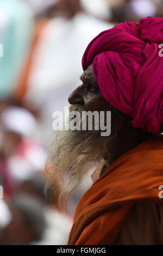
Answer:
[[[71,105],[80,105],[86,111],[108,111],[111,107],[101,94],[98,83],[93,75],[92,65],[84,71],[82,77],[82,84],[75,89],[68,97],[68,102]],[[114,154],[113,159],[135,148],[138,144],[145,141],[151,133],[147,133],[141,129],[135,129],[131,124],[131,117],[119,112],[122,115],[122,120],[117,123],[117,141],[115,142],[115,149],[112,150]],[[114,113],[111,112],[111,119],[114,120]],[[111,124],[112,125],[112,124]],[[105,156],[103,156],[106,159]]]

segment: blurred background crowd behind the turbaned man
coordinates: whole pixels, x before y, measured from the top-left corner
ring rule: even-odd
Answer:
[[[163,0],[0,0],[1,245],[66,245],[92,170],[67,211],[58,204],[59,178],[45,198],[52,114],[64,113],[80,85],[87,44],[116,23],[147,16],[163,17]]]

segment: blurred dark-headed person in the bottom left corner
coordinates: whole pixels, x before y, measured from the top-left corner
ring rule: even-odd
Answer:
[[[29,245],[39,241],[46,228],[42,204],[34,197],[17,194],[8,200],[10,222],[2,229],[1,245]]]

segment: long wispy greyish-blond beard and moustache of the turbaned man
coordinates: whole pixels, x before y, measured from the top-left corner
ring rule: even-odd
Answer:
[[[79,105],[73,105],[70,107],[70,113],[73,111],[78,111],[82,117],[85,109]],[[72,118],[69,121],[71,120]],[[58,131],[48,154],[48,163],[52,167],[49,182],[57,173],[62,178],[68,174],[70,179],[68,185],[76,181],[72,189],[74,190],[92,164],[105,159],[106,164],[109,165],[112,161],[111,151],[114,148],[114,142],[115,131],[108,137],[102,137],[100,129]]]

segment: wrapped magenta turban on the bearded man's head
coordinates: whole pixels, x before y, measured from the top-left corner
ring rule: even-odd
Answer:
[[[93,39],[83,56],[83,70],[93,73],[106,101],[133,117],[147,132],[163,129],[163,18],[147,17],[115,25]],[[163,52],[162,52],[163,53]]]

